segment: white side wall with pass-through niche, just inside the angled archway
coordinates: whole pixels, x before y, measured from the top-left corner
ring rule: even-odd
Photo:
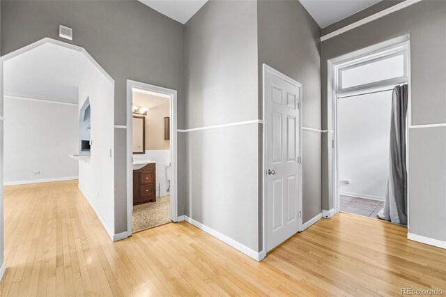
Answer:
[[[79,188],[113,236],[114,83],[90,62],[79,84],[79,107],[86,98],[91,105],[91,157],[89,162],[79,161]]]

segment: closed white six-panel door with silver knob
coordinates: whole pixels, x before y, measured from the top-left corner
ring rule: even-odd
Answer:
[[[300,96],[302,85],[265,70],[266,251],[300,228]]]

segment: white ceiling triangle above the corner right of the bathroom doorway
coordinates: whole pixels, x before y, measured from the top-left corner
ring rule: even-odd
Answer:
[[[139,0],[163,15],[185,24],[208,0]]]

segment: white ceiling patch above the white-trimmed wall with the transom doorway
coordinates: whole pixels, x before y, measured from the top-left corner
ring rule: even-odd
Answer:
[[[321,28],[354,15],[380,0],[300,0]]]

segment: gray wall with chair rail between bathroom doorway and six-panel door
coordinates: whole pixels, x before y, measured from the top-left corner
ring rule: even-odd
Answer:
[[[256,1],[209,1],[184,32],[186,128],[258,119]],[[258,126],[183,133],[185,215],[254,251]]]

